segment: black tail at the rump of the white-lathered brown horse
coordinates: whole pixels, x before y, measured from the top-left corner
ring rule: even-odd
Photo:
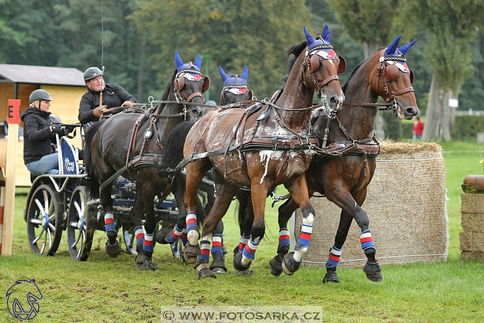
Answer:
[[[170,176],[180,161],[183,160],[185,139],[187,139],[188,132],[194,124],[194,121],[182,122],[176,125],[169,133],[158,168],[158,174],[161,177]]]

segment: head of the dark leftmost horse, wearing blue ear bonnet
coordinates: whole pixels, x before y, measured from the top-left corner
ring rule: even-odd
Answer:
[[[175,51],[175,61],[176,68],[178,69],[174,81],[176,100],[180,103],[203,103],[205,101],[203,93],[208,90],[210,79],[208,76],[202,76],[202,73],[200,72],[200,67],[202,65],[200,54],[197,55],[195,64],[192,62],[183,63],[178,55],[178,51]],[[200,119],[205,113],[202,106],[192,104],[187,104],[186,106],[187,113],[192,121]]]

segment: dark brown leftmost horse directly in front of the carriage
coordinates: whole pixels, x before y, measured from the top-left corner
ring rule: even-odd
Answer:
[[[203,115],[205,112],[203,107],[185,103],[203,103],[203,92],[210,84],[208,77],[203,77],[200,73],[200,55],[197,55],[195,64],[192,62],[185,64],[176,51],[175,61],[176,69],[171,73],[161,100],[178,103],[160,104],[141,116],[134,113],[116,114],[108,120],[94,123],[86,132],[85,138],[86,168],[90,179],[90,191],[94,197],[97,196],[103,182],[116,171],[130,166],[120,175],[137,183],[132,219],[135,225],[137,250],[139,250],[138,246],[143,246],[144,251],[139,252],[136,259],[137,266],[141,270],[158,268],[152,260],[153,232],[156,225],[153,213],[155,195],[171,189],[178,205],[182,205],[185,195],[183,182],[178,183],[177,179],[174,179],[171,186],[170,179],[158,176],[154,165],[156,160],[160,159],[163,143],[175,125],[183,122],[187,115],[191,120],[197,120]],[[133,158],[135,156],[136,158]],[[150,160],[144,160],[144,156],[150,157],[148,158]],[[130,161],[131,158],[133,159]],[[131,166],[136,166],[136,159],[140,160],[141,165],[145,167],[133,169]],[[148,167],[149,165],[151,167]],[[113,221],[111,188],[112,181],[101,189],[100,203],[105,212],[104,222],[108,237],[105,250],[111,257],[115,257],[121,248],[116,240],[117,230]],[[143,211],[146,213],[146,233],[143,233],[140,219]],[[184,212],[182,207],[180,212]]]

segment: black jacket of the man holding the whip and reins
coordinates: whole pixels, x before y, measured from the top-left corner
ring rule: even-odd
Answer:
[[[92,113],[99,106],[99,94],[99,91],[93,91],[88,88],[88,91],[82,96],[78,116],[81,123],[86,124],[91,121],[99,121],[99,117],[95,117]],[[106,87],[102,90],[102,105],[107,105],[107,109],[110,109],[114,106],[121,106],[125,101],[137,102],[136,98],[122,86],[114,83],[106,84]],[[109,114],[113,113],[116,113],[116,111],[109,112]]]

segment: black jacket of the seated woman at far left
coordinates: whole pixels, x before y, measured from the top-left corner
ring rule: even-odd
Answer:
[[[50,132],[52,123],[49,115],[50,112],[35,107],[29,107],[22,113],[20,119],[24,122],[24,164],[51,153],[50,143],[55,143],[55,133]],[[59,136],[64,136],[64,129]]]

